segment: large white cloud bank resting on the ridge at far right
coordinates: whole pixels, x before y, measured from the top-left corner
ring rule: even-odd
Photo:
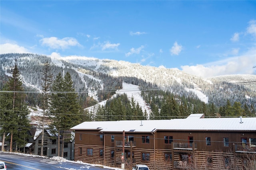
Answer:
[[[197,64],[196,66],[181,66],[182,71],[204,78],[228,74],[254,74],[256,49],[250,49],[244,55],[230,57],[214,63]]]

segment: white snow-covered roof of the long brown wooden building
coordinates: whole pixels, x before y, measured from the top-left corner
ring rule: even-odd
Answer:
[[[99,130],[102,132],[154,132],[156,130],[187,131],[256,131],[256,117],[201,118],[203,114],[191,114],[186,119],[86,121],[72,130]]]

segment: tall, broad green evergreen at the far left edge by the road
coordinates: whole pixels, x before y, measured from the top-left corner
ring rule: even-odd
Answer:
[[[16,150],[20,147],[18,145],[26,145],[26,138],[28,137],[26,131],[30,126],[27,117],[29,112],[25,102],[25,94],[22,93],[23,87],[17,60],[15,60],[12,77],[7,82],[6,91],[10,91],[10,94],[4,93],[1,95],[1,107],[5,108],[5,110],[1,110],[2,143],[4,145],[5,134],[7,132],[10,133],[10,152],[12,152],[13,141],[16,142]],[[13,140],[14,136],[15,138]]]

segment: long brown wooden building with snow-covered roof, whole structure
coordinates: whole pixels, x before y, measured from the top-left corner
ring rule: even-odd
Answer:
[[[74,159],[154,170],[243,169],[256,158],[256,117],[92,121],[75,127]],[[125,135],[123,135],[123,131]],[[124,143],[123,143],[124,138]]]

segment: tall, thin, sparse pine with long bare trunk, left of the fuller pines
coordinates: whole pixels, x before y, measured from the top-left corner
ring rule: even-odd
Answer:
[[[41,143],[41,156],[43,156],[43,146],[44,146],[44,116],[46,109],[48,109],[48,101],[49,101],[49,93],[52,86],[52,70],[50,67],[50,63],[44,63],[43,68],[43,78],[42,78],[42,109],[43,109],[43,117],[42,117],[42,143]]]

